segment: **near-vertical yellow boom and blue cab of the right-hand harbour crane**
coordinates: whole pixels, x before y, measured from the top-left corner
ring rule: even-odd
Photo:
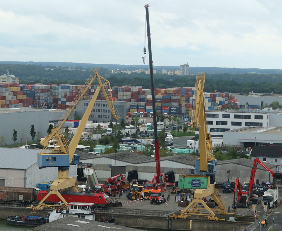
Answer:
[[[205,73],[197,73],[191,127],[199,129],[200,158],[196,161],[196,172],[211,176],[217,172],[217,159],[215,159],[212,154],[212,137],[211,134],[207,132],[206,127],[204,105],[205,78]]]

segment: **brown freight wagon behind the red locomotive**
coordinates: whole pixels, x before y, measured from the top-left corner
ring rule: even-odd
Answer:
[[[36,200],[39,188],[0,187],[0,201],[31,203]]]

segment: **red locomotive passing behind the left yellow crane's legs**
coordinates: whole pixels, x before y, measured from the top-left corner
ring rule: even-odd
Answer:
[[[42,190],[37,195],[37,200],[41,201],[49,191]],[[109,205],[109,200],[106,193],[91,193],[91,192],[60,192],[60,194],[65,198],[67,203],[79,202],[79,203],[94,203],[95,207],[107,208]],[[58,203],[61,199],[55,195],[51,194],[46,198],[45,203]]]

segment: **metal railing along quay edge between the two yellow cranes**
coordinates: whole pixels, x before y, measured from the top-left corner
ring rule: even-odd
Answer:
[[[169,211],[158,211],[158,210],[137,210],[137,209],[119,209],[119,208],[96,208],[96,213],[106,214],[125,214],[125,215],[136,215],[136,216],[154,216],[154,217],[166,217],[171,213],[178,211],[177,208],[173,208]]]

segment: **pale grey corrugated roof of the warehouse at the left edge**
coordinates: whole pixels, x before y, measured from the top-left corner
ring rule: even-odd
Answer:
[[[39,149],[0,148],[0,168],[27,169],[37,161]]]

